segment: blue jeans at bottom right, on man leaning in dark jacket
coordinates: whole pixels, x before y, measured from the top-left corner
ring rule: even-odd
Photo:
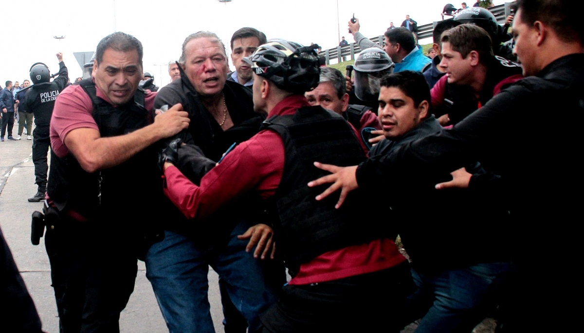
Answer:
[[[422,318],[416,333],[472,332],[495,308],[511,271],[509,262],[475,264],[435,275],[412,268],[418,290],[406,306],[413,320]]]

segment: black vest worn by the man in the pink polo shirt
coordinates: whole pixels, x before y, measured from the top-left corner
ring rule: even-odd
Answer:
[[[96,96],[91,79],[78,84],[91,97],[100,136],[124,135],[148,125],[142,90],[127,104],[114,107]],[[114,212],[116,219],[136,220],[148,211],[151,201],[159,202],[163,196],[157,156],[152,145],[117,166],[88,173],[71,153],[61,158],[51,151],[48,196],[59,210],[66,207],[85,218]]]

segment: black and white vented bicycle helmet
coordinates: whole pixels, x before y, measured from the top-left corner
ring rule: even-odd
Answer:
[[[244,61],[253,71],[291,93],[304,94],[318,86],[320,66],[314,51],[318,45],[303,46],[282,39],[259,45]]]

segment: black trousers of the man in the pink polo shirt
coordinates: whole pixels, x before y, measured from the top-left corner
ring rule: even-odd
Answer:
[[[108,227],[116,225],[111,222],[78,222],[61,213],[47,226],[44,241],[61,333],[120,331],[120,312],[134,291],[138,266],[126,233]]]

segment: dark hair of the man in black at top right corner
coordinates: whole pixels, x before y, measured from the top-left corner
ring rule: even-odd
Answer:
[[[561,40],[579,41],[584,44],[584,26],[580,23],[580,11],[568,0],[519,0],[521,21],[532,25],[541,21],[550,26]]]

